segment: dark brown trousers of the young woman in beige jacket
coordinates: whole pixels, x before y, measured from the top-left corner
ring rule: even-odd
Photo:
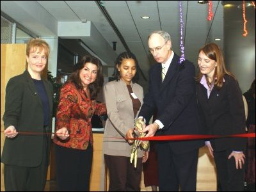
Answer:
[[[130,157],[104,155],[109,169],[109,191],[140,191],[142,158],[137,167],[130,163]]]

